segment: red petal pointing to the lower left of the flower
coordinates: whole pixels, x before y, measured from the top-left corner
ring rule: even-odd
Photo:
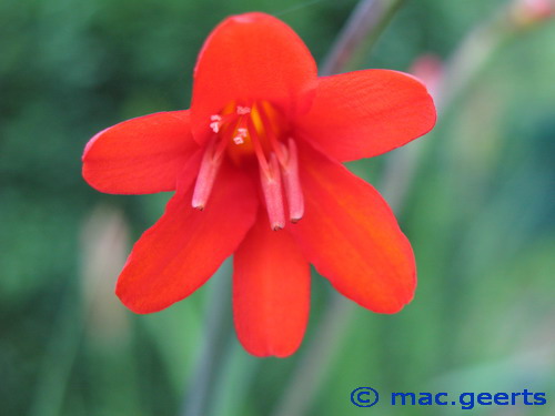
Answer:
[[[179,187],[164,215],[134,245],[115,287],[131,311],[157,312],[189,296],[235,251],[254,223],[259,205],[254,186],[230,165],[221,168],[204,211],[192,209],[191,197],[192,189]]]

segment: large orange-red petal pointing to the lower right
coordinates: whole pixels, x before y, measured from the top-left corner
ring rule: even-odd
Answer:
[[[414,255],[386,202],[366,182],[300,146],[303,219],[289,230],[311,263],[360,305],[395,313],[416,285]]]

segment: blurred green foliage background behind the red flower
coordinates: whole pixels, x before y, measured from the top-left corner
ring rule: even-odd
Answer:
[[[426,52],[448,59],[503,3],[408,2],[366,64],[406,71]],[[117,244],[127,253],[129,241],[159,217],[169,195],[97,193],[81,179],[82,149],[95,132],[124,119],[186,108],[196,53],[225,16],[276,14],[322,60],[354,6],[0,1],[2,415],[181,412],[196,383],[211,294],[229,280],[230,266],[164,312],[127,312],[111,293],[124,256],[109,251],[95,263],[89,257],[94,244]],[[418,264],[416,297],[393,316],[354,310],[335,334],[341,348],[331,363],[322,363],[315,395],[306,397],[307,414],[360,413],[349,395],[365,385],[383,392],[554,392],[554,43],[555,26],[547,23],[503,44],[444,109],[436,130],[420,140],[427,144],[400,211]],[[353,169],[376,180],[389,158]],[[113,230],[120,234],[112,239]],[[331,296],[314,275],[305,343],[289,359],[249,356],[228,318],[215,346],[220,355],[209,414],[269,415],[278,408],[303,354],[310,354],[309,341]],[[552,415],[549,393],[548,400],[512,414]],[[466,410],[381,405],[379,412]]]

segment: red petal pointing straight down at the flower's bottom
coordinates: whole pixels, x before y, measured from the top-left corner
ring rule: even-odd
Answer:
[[[296,243],[284,231],[271,231],[261,211],[233,262],[233,315],[241,344],[256,356],[293,354],[310,307],[310,267]]]

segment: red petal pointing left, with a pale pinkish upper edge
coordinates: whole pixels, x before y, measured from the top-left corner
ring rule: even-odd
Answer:
[[[131,119],[93,136],[83,153],[83,177],[107,193],[175,190],[183,164],[198,149],[189,111]]]

